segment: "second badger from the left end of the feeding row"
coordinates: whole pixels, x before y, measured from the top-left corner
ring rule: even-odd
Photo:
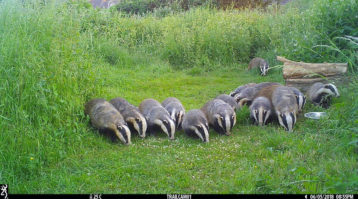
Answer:
[[[139,111],[139,108],[122,97],[113,98],[110,103],[121,113],[131,132],[138,132],[140,137],[145,137],[147,121]]]

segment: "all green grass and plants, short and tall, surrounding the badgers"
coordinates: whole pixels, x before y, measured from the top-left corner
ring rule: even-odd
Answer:
[[[5,0],[0,183],[10,193],[358,193],[358,41],[344,37],[357,37],[357,6],[297,0],[276,13],[200,7],[159,18],[84,0]],[[83,115],[95,97],[138,105],[175,96],[190,110],[241,84],[284,83],[279,70],[245,71],[255,56],[280,64],[276,54],[349,63],[352,83],[338,87],[328,118],[301,115],[288,133],[252,126],[244,107],[232,135],[210,131],[208,144],[180,131],[174,141],[161,134],[125,146]]]

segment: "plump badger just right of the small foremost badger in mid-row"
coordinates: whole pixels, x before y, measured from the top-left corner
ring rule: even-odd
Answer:
[[[222,100],[211,100],[201,110],[205,117],[218,134],[230,135],[232,127],[236,123],[234,110]]]

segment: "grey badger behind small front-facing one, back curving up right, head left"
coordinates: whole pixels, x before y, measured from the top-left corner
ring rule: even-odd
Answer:
[[[262,82],[258,84],[254,84],[252,86],[248,86],[247,88],[243,89],[240,93],[236,94],[235,100],[237,103],[237,106],[240,108],[244,104],[250,106],[252,101],[255,99],[258,92],[261,91],[261,89],[271,86],[271,85],[280,85],[276,82]]]

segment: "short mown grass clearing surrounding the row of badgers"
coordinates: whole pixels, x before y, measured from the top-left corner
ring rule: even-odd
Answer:
[[[192,75],[174,71],[165,63],[126,69],[105,65],[98,73],[102,82],[96,97],[110,100],[125,97],[138,105],[145,98],[158,101],[174,96],[186,110],[200,108],[221,93],[229,93],[248,82],[283,83],[282,73],[266,77],[247,72],[247,65],[217,66],[214,71]],[[258,72],[257,72],[258,73]],[[347,101],[342,98],[334,103]],[[308,104],[293,132],[277,124],[253,126],[249,111],[237,111],[237,123],[230,136],[209,132],[210,142],[188,138],[176,132],[132,137],[132,145],[112,144],[82,121],[69,141],[69,149],[55,149],[55,164],[46,165],[41,175],[13,181],[12,193],[314,193],[326,191],[319,176],[349,178],[357,169],[357,154],[347,152],[350,133],[337,119],[339,108],[329,118],[309,120],[308,111],[322,111]],[[338,114],[338,115],[337,115]],[[78,114],[81,115],[81,114]],[[58,151],[57,151],[58,150]],[[43,151],[46,153],[46,151]],[[42,161],[34,157],[31,162]],[[299,171],[299,172],[297,172]],[[14,187],[15,186],[15,187]]]

